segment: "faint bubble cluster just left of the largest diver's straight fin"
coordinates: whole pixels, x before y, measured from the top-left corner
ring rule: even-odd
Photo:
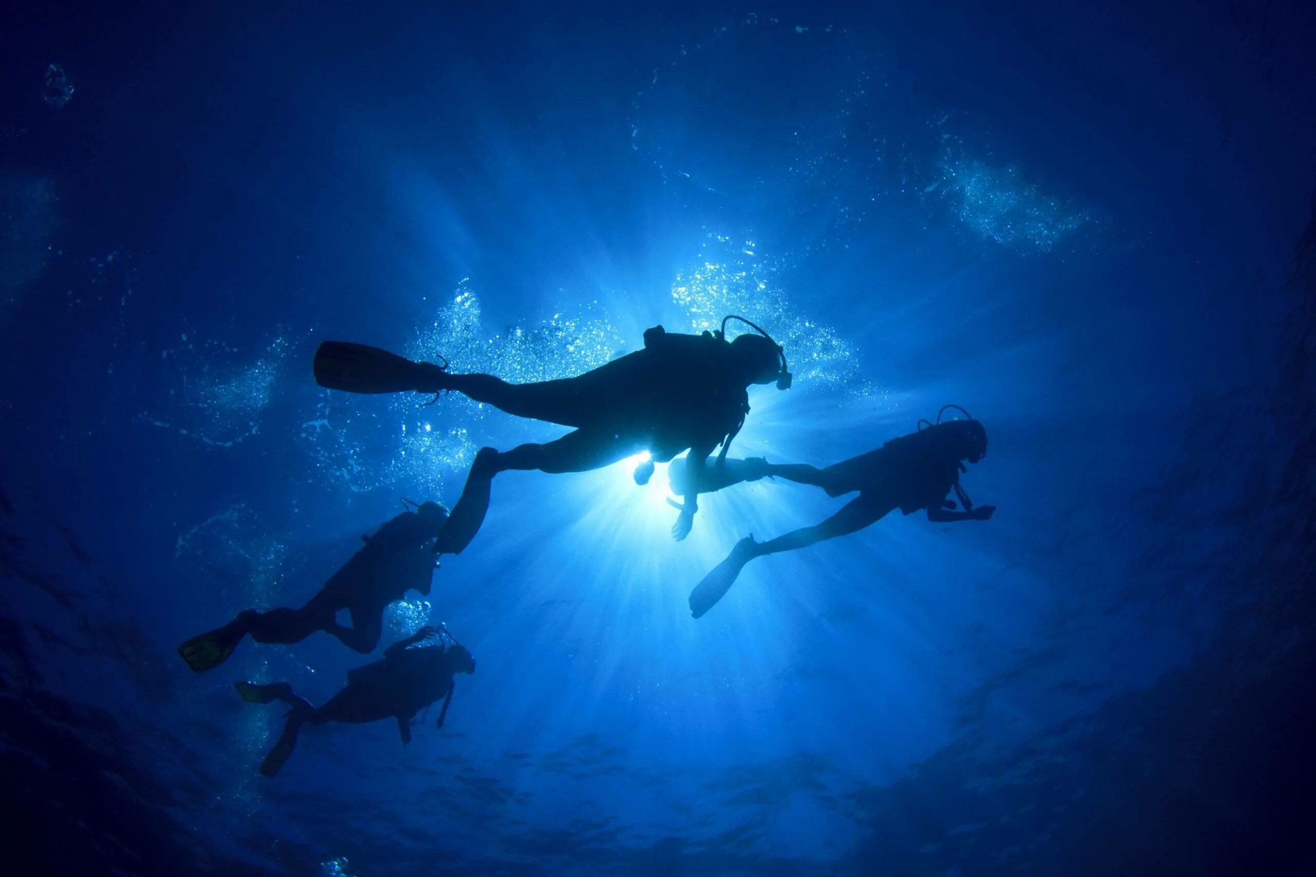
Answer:
[[[178,344],[161,351],[161,359],[170,360],[179,377],[179,385],[168,391],[167,413],[142,414],[139,419],[209,447],[233,447],[255,435],[288,343],[275,338],[255,362],[217,362],[237,352],[221,342],[182,333]]]

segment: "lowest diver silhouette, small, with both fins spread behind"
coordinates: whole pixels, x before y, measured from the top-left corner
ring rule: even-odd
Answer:
[[[441,630],[421,627],[412,636],[386,648],[383,660],[347,671],[347,688],[318,709],[293,694],[292,686],[287,682],[234,684],[233,688],[247,703],[283,701],[292,707],[279,742],[261,763],[261,773],[272,777],[279,772],[297,746],[297,734],[307,722],[361,724],[393,718],[397,721],[397,731],[405,746],[411,743],[411,724],[416,714],[429,710],[430,703],[442,698],[443,707],[438,711],[434,727],[443,727],[443,718],[447,715],[447,706],[453,702],[453,690],[457,688],[454,677],[457,673],[474,673],[475,657],[446,627],[440,627]],[[451,644],[443,642],[445,635]],[[432,636],[438,636],[440,646],[412,648]]]

